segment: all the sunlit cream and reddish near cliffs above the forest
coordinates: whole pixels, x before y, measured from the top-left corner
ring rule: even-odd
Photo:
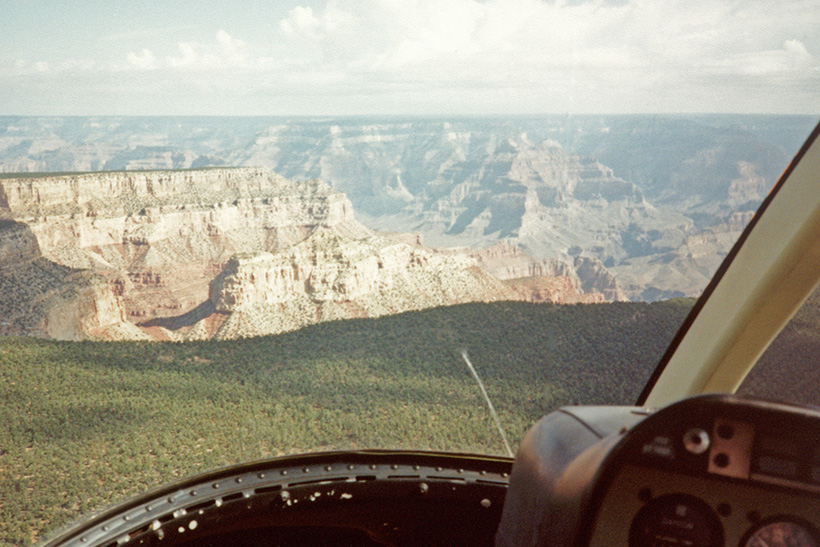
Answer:
[[[266,168],[7,176],[0,218],[2,334],[237,338],[464,302],[621,297],[604,268],[585,281],[511,244],[475,253],[379,234],[338,190]]]

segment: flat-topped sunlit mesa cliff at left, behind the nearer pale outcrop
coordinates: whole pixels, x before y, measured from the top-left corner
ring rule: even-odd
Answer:
[[[266,169],[9,178],[0,203],[45,258],[106,275],[133,322],[202,303],[236,252],[286,248],[316,226],[370,233],[343,194]]]

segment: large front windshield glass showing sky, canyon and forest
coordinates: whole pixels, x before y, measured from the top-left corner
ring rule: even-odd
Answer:
[[[814,3],[280,4],[0,8],[0,546],[633,403],[817,122]]]

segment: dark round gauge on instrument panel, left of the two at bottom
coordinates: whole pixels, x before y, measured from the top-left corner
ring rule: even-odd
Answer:
[[[629,547],[655,545],[721,547],[723,527],[715,512],[694,496],[660,496],[638,511],[629,528]]]

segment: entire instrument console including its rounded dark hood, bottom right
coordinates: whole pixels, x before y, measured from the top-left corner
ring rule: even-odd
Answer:
[[[522,443],[497,545],[812,547],[818,494],[812,409],[730,396],[568,407]]]

